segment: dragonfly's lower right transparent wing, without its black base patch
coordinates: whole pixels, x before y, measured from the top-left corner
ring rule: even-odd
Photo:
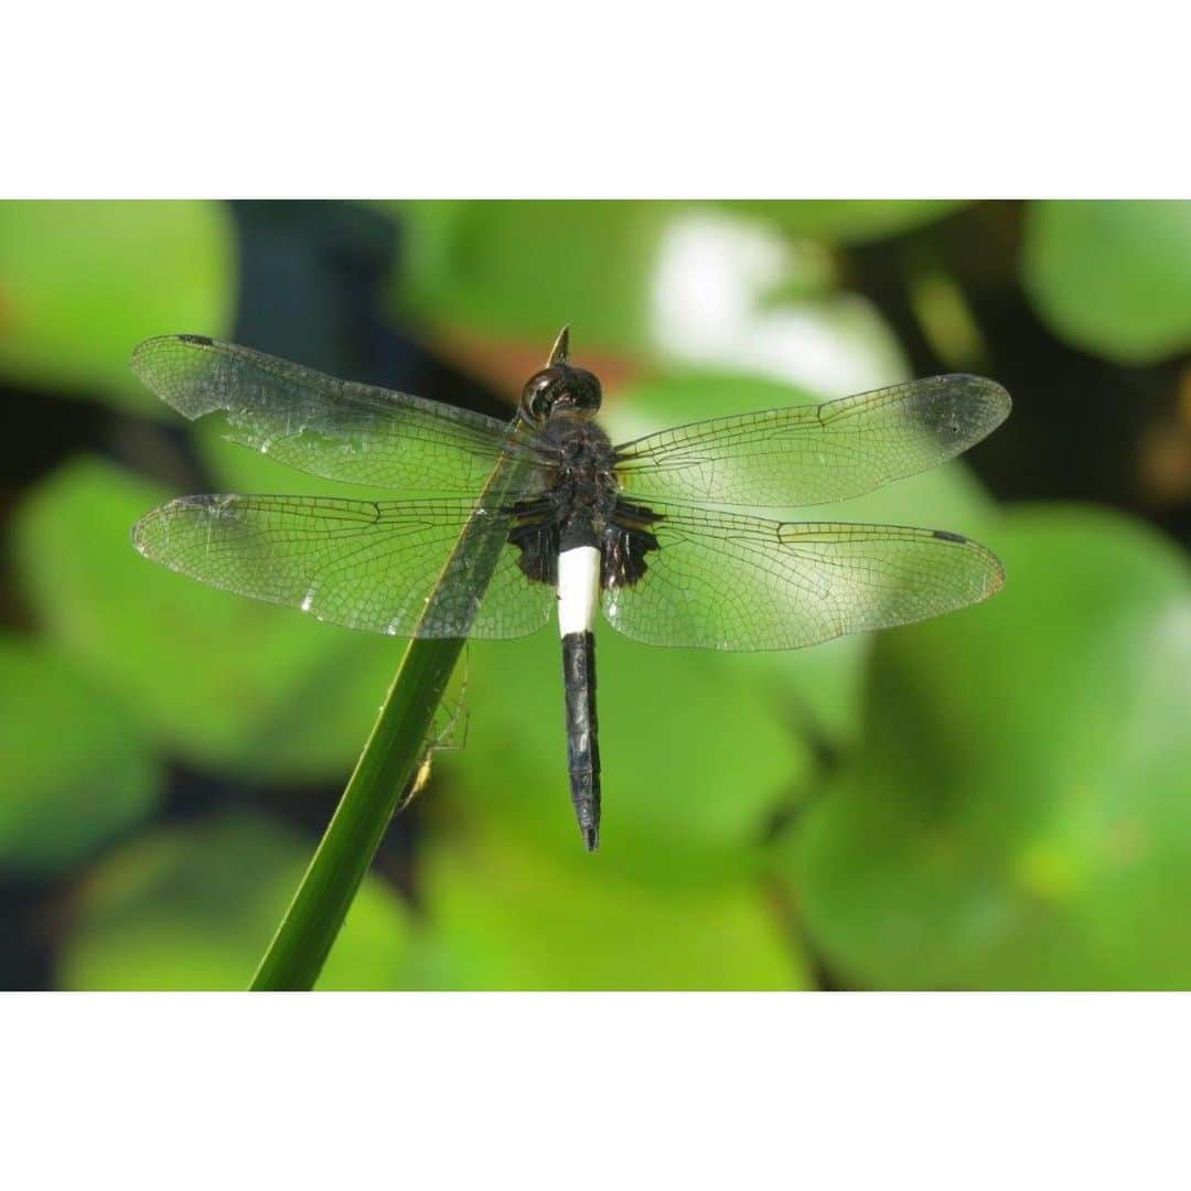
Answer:
[[[984,547],[942,530],[655,512],[644,576],[604,593],[609,623],[655,646],[797,649],[950,612],[1004,580]]]

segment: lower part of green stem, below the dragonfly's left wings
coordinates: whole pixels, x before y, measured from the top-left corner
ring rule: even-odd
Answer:
[[[406,785],[462,640],[411,641],[343,798],[250,989],[312,989]]]

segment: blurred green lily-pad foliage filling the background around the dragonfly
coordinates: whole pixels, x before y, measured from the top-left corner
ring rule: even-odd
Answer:
[[[919,361],[1009,382],[1043,348],[1067,370],[1010,384],[1015,419],[1086,423],[1091,378],[1140,429],[1086,456],[1131,486],[1050,482],[1070,461],[1011,419],[980,456],[999,499],[955,462],[831,506],[985,542],[987,605],[793,654],[603,632],[594,858],[555,636],[472,646],[467,747],[394,822],[320,987],[1191,985],[1191,204],[368,208],[401,229],[386,319],[505,389],[569,320],[613,437]],[[225,490],[333,488],[177,426],[127,370],[150,335],[233,335],[237,244],[220,204],[0,204],[4,398],[102,413],[4,484],[10,986],[243,987],[400,656],[131,548],[180,492],[170,436]],[[5,426],[6,457],[38,454],[19,407]],[[180,774],[235,793],[180,803]]]

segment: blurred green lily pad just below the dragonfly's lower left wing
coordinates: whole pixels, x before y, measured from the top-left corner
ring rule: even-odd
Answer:
[[[142,559],[172,493],[98,461],[18,511],[18,572],[46,629],[169,748],[257,778],[342,778],[400,656],[393,641],[238,599]]]

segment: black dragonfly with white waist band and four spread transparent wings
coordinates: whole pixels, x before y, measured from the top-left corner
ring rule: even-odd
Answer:
[[[154,509],[137,549],[214,587],[401,637],[512,638],[557,617],[570,799],[599,843],[597,612],[651,646],[798,649],[997,592],[997,557],[942,529],[778,520],[948,460],[1008,417],[994,381],[944,375],[613,444],[569,330],[510,423],[337,380],[201,335],[133,372],[187,418],[387,499],[207,494]]]

